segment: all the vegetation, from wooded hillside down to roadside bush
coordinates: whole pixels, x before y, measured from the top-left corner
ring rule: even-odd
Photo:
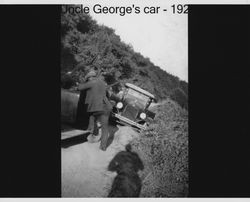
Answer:
[[[90,69],[108,84],[133,83],[154,94],[160,104],[155,120],[132,142],[145,170],[142,197],[181,197],[188,194],[188,84],[123,43],[113,29],[90,16],[61,16],[61,86],[70,88]],[[73,71],[72,74],[66,74]]]

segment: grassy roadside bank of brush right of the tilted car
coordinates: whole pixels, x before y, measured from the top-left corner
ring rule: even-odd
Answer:
[[[132,142],[145,166],[141,196],[187,196],[188,112],[170,99],[153,111],[150,128]]]

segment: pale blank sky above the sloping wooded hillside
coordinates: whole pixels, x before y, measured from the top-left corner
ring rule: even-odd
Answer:
[[[98,1],[85,4],[93,8]],[[166,72],[188,81],[188,16],[173,14],[171,4],[164,0],[109,0],[99,1],[103,6],[139,6],[139,14],[96,14],[90,15],[98,24],[115,30],[121,40],[130,44],[136,52],[148,57],[151,62]],[[160,6],[158,14],[145,14],[145,6]],[[163,8],[168,11],[164,12]],[[92,11],[92,12],[91,12]]]

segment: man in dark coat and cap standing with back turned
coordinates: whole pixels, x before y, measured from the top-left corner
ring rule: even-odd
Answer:
[[[88,129],[93,133],[95,122],[100,123],[102,129],[100,149],[105,151],[109,136],[108,120],[112,109],[106,97],[107,85],[102,79],[96,77],[94,71],[90,71],[85,79],[87,82],[80,84],[78,90],[86,90],[85,104],[87,104],[87,112],[90,113]],[[93,134],[90,137],[92,140],[95,139]]]

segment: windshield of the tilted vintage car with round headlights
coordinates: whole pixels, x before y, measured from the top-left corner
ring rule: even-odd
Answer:
[[[125,96],[125,101],[130,105],[135,105],[140,109],[144,109],[148,102],[149,97],[135,91],[131,88],[128,89],[128,93]]]

